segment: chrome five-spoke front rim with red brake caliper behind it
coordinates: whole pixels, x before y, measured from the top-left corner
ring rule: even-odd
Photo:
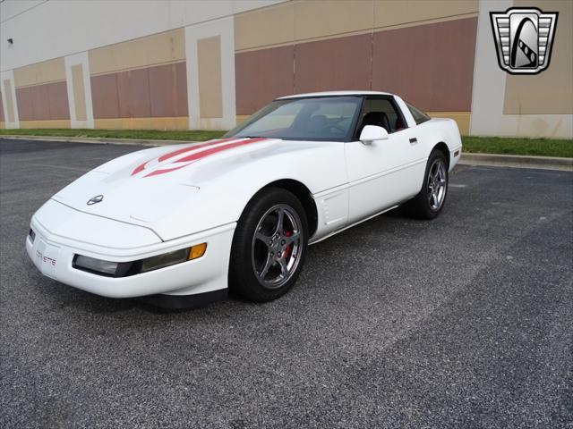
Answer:
[[[280,288],[296,271],[303,251],[303,224],[295,209],[272,206],[252,237],[252,269],[265,288]]]

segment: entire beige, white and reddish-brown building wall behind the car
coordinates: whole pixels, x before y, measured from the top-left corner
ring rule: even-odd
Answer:
[[[55,47],[38,42],[41,53],[23,40],[39,63],[22,63],[21,50],[3,51],[10,55],[3,64],[13,65],[2,70],[0,122],[229,129],[274,97],[344,87],[396,92],[432,116],[455,119],[463,134],[573,134],[571,1],[166,0],[153,10],[142,4],[135,26],[113,24],[110,13],[133,15],[127,6],[70,5],[70,13],[89,11],[106,25],[100,33],[57,27]],[[551,66],[538,75],[512,76],[497,65],[489,13],[511,6],[560,13]],[[10,15],[2,31],[33,19],[40,31],[42,8],[62,10],[47,2]],[[73,47],[58,56],[66,40]],[[58,55],[46,59],[52,52]]]

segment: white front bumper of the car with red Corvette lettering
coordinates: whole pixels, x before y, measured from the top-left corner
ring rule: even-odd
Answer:
[[[55,209],[73,210],[59,206]],[[62,225],[65,223],[60,220],[57,224],[51,224],[52,228],[49,228],[47,224],[51,223],[51,217],[44,218],[42,214],[42,209],[40,209],[32,218],[30,228],[36,236],[33,243],[30,236],[26,239],[26,250],[38,270],[58,282],[110,298],[133,298],[155,294],[183,297],[227,290],[228,263],[235,223],[228,223],[180,239],[154,242],[147,246],[138,244],[135,248],[116,248],[73,240],[70,234],[62,231]],[[81,216],[89,216],[85,218],[86,228],[93,227],[93,223],[90,223],[93,216],[90,214],[81,214]],[[98,228],[105,231],[115,229],[124,231],[126,234],[139,232],[139,227],[135,225],[117,223],[109,219],[98,218],[97,223]],[[136,230],[130,231],[130,229]],[[73,268],[73,257],[76,254],[114,262],[129,262],[178,248],[190,247],[201,242],[208,243],[207,251],[198,259],[129,277],[106,277]]]

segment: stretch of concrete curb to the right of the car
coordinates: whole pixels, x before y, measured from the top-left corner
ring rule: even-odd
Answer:
[[[459,164],[490,165],[496,167],[539,168],[573,172],[573,158],[556,156],[520,156],[462,153]]]

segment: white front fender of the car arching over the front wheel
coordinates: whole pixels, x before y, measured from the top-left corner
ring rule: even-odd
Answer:
[[[172,240],[235,223],[259,190],[285,179],[303,183],[313,194],[346,183],[344,144],[286,141],[198,166],[189,184],[200,190],[151,227]]]

